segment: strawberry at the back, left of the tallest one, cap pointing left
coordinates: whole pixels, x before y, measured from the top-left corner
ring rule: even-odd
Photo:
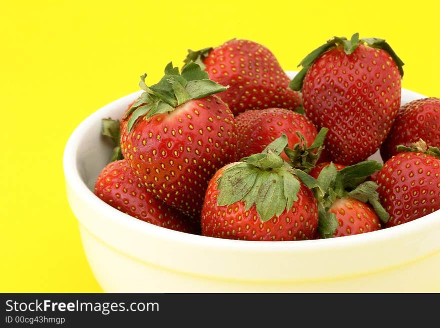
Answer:
[[[188,52],[185,63],[192,60],[208,72],[211,80],[229,85],[219,97],[234,115],[268,107],[294,110],[301,105],[300,93],[288,89],[289,77],[261,44],[233,39],[216,48]]]

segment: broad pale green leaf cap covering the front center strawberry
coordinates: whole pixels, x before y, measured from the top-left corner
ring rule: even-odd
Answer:
[[[298,200],[301,187],[290,165],[279,156],[287,146],[281,135],[261,153],[241,159],[223,171],[216,183],[217,205],[228,206],[243,201],[247,211],[255,204],[261,222],[279,216]]]

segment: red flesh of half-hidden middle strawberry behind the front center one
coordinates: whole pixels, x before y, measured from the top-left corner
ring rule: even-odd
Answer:
[[[309,145],[317,135],[315,126],[305,116],[287,109],[248,110],[237,115],[236,120],[245,122],[237,124],[237,158],[260,153],[283,133],[290,147],[301,141],[296,132],[302,134]],[[281,157],[288,160],[285,153]]]

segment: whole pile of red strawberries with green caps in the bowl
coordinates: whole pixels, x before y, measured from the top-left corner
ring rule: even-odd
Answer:
[[[400,106],[403,62],[379,38],[333,37],[290,80],[248,40],[188,51],[119,120],[94,193],[209,237],[339,237],[440,209],[440,98]],[[368,160],[380,149],[384,164]]]

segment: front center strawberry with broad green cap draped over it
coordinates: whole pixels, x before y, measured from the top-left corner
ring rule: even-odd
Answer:
[[[209,181],[201,212],[202,235],[226,239],[285,241],[314,236],[316,200],[278,155],[285,135],[262,153],[230,163]]]

